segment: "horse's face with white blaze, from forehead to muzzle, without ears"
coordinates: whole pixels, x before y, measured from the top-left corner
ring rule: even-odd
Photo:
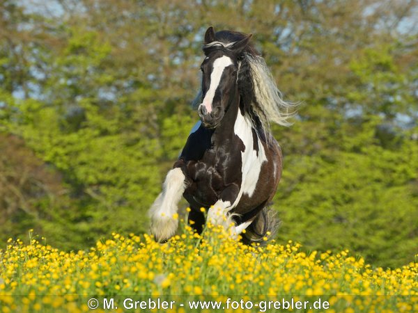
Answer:
[[[232,53],[214,51],[201,65],[203,102],[198,113],[203,125],[215,128],[222,120],[238,88],[238,61]]]

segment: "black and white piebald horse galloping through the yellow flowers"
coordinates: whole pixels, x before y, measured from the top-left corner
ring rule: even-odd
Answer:
[[[270,122],[290,125],[292,104],[282,99],[251,36],[215,33],[212,26],[205,33],[201,90],[193,101],[200,120],[148,211],[157,242],[176,233],[182,196],[191,209],[189,225],[199,234],[206,220],[234,238],[241,234],[245,243],[263,243],[277,231],[269,204],[281,178],[282,154]]]

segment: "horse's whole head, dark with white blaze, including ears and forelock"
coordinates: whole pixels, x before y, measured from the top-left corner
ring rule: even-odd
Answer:
[[[203,51],[206,58],[201,64],[202,98],[198,113],[203,125],[215,128],[224,118],[231,102],[238,97],[238,70],[240,58],[251,35],[230,31],[206,31]]]

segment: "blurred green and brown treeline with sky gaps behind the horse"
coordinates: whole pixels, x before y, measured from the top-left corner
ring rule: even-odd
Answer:
[[[197,115],[202,36],[254,33],[290,128],[278,240],[418,252],[417,1],[0,1],[0,241],[146,232]]]

